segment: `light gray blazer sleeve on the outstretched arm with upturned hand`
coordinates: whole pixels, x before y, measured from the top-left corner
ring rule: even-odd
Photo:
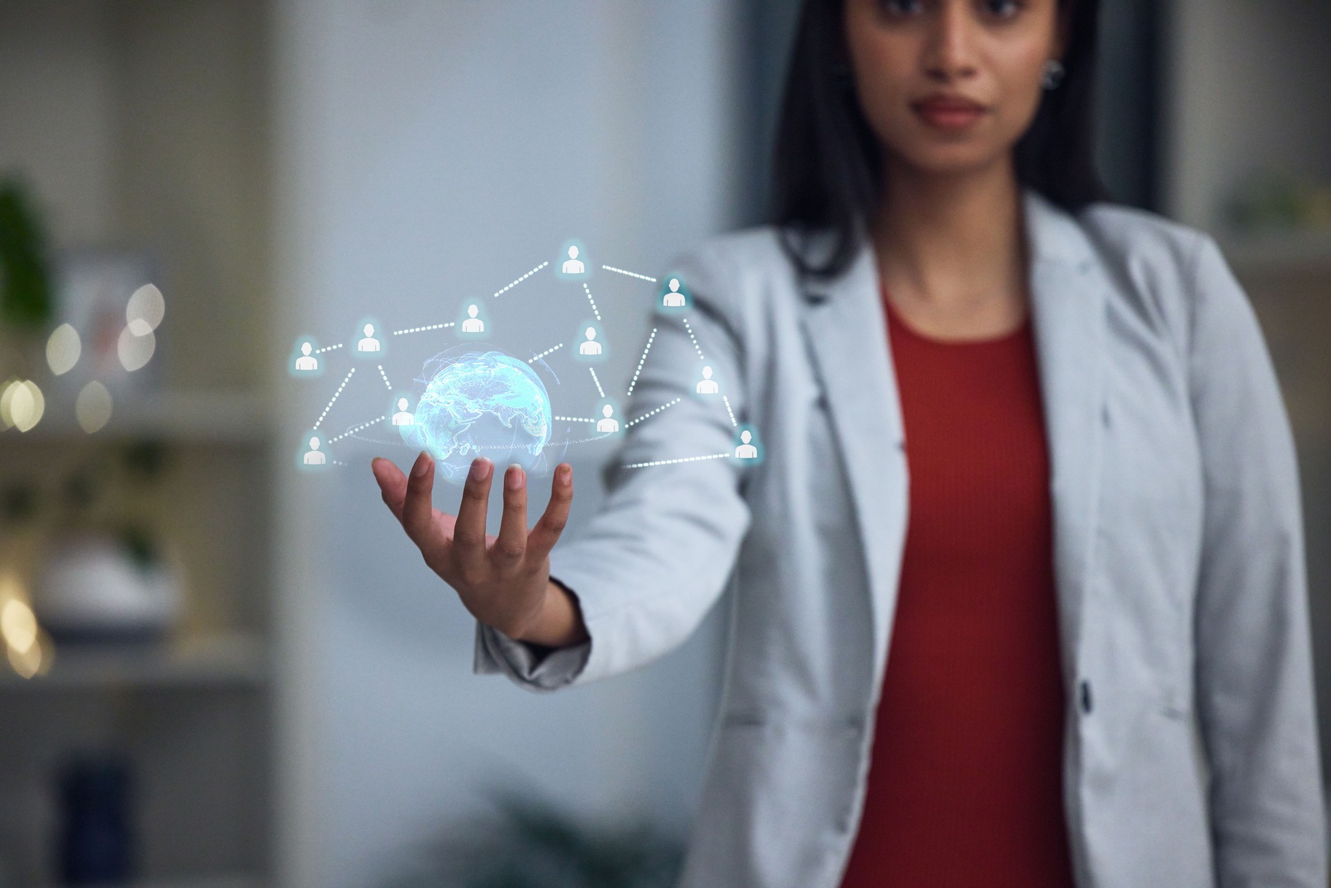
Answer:
[[[603,470],[606,501],[550,556],[591,640],[543,655],[478,624],[475,672],[534,691],[616,675],[680,644],[724,591],[749,526],[747,465],[733,457],[748,410],[737,290],[731,264],[709,253],[684,260],[679,277],[691,305],[658,305],[624,438]],[[704,366],[720,395],[695,393]]]

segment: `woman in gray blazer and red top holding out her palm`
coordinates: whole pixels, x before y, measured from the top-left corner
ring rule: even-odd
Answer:
[[[805,3],[776,225],[683,264],[578,541],[567,465],[487,538],[487,461],[457,518],[374,463],[478,671],[622,672],[735,584],[685,885],[1326,884],[1288,423],[1215,244],[1101,200],[1095,15]]]

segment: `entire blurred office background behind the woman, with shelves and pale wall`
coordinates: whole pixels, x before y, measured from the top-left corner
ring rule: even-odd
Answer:
[[[1331,7],[1103,7],[1106,177],[1221,238],[1276,359],[1326,724]],[[369,473],[410,454],[369,433],[329,443],[346,466],[294,469],[321,413],[329,437],[381,415],[379,386],[410,387],[449,332],[386,335],[386,378],[355,363],[326,410],[346,350],[317,381],[287,361],[297,337],[443,324],[473,297],[514,350],[567,342],[580,288],[491,293],[578,238],[600,382],[623,391],[652,290],[600,265],[655,277],[761,220],[795,8],[0,0],[0,888],[125,865],[89,851],[98,827],[134,884],[454,884],[431,861],[503,792],[550,804],[519,845],[555,824],[574,832],[542,833],[548,855],[668,860],[724,608],[620,679],[536,696],[473,676],[470,618]],[[558,358],[556,413],[594,403]],[[598,447],[568,453],[571,533]]]

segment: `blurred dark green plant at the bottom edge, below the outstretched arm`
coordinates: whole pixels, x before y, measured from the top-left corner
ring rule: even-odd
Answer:
[[[598,828],[500,792],[491,816],[426,845],[383,888],[669,888],[681,861],[683,843],[646,821]]]

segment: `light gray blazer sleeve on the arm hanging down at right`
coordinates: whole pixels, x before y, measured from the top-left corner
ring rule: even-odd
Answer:
[[[1256,317],[1210,237],[1193,265],[1205,526],[1197,704],[1221,888],[1327,884],[1298,465]]]

